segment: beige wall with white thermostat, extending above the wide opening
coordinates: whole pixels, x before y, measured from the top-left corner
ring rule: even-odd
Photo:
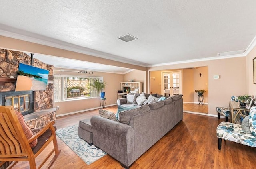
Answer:
[[[217,106],[228,106],[232,95],[246,94],[246,57],[217,59],[150,67],[148,71],[208,66],[208,114],[217,115]],[[220,75],[220,79],[213,79]]]

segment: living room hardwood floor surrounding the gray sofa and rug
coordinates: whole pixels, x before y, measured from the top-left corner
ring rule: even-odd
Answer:
[[[116,112],[116,106],[106,108]],[[80,119],[98,115],[98,110],[60,117],[57,128],[78,124]],[[256,168],[256,149],[232,141],[222,141],[218,150],[216,128],[224,119],[184,113],[184,118],[154,144],[130,169],[252,169]],[[58,137],[57,137],[58,138]],[[113,143],[114,145],[114,143]],[[106,155],[86,165],[59,138],[61,153],[51,169],[122,169],[120,163]],[[38,161],[43,157],[37,158]],[[29,169],[27,162],[16,168]]]

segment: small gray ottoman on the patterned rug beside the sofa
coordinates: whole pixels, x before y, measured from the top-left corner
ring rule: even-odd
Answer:
[[[92,126],[90,119],[79,121],[77,135],[79,138],[84,139],[89,145],[92,145]]]

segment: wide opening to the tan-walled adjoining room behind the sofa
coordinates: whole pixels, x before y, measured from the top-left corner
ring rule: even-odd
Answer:
[[[178,72],[179,74],[174,74]],[[179,90],[177,90],[179,87]],[[204,104],[198,104],[195,90],[204,89]],[[150,93],[182,94],[184,112],[208,113],[208,67],[150,71]]]

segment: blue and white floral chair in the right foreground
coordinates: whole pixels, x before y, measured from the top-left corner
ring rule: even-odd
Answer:
[[[221,122],[217,127],[217,137],[219,150],[222,139],[256,147],[256,106],[250,108],[249,116],[242,124]]]

